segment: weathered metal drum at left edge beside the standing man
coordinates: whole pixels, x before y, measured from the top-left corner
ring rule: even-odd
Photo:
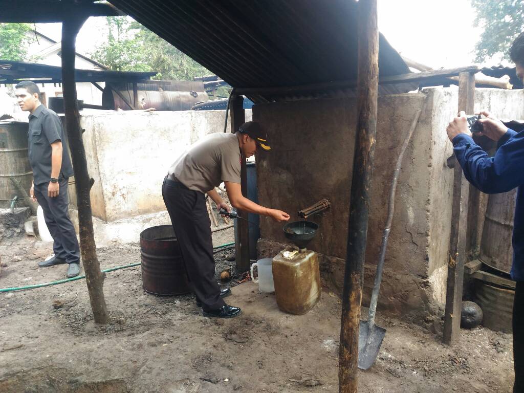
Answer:
[[[0,122],[0,207],[19,195],[10,177],[15,178],[27,193],[31,188],[32,170],[28,156],[28,123]]]

